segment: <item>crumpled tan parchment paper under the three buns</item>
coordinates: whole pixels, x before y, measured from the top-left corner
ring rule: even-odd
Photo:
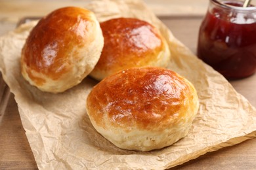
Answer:
[[[59,94],[30,86],[20,74],[20,51],[31,22],[0,38],[0,70],[15,95],[26,136],[39,169],[166,169],[256,136],[256,109],[223,76],[196,58],[142,3],[94,1],[87,6],[99,21],[135,17],[156,25],[169,42],[169,69],[198,90],[200,109],[190,133],[172,146],[151,152],[121,150],[96,133],[85,99],[97,83],[81,84]]]

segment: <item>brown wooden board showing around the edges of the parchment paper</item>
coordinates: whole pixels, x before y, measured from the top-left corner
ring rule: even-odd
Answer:
[[[175,37],[186,44],[192,52],[196,52],[202,16],[166,16],[161,17],[161,20],[173,31]],[[256,75],[233,80],[231,84],[256,107]],[[0,115],[0,121],[0,169],[37,169],[12,94],[5,114]],[[256,169],[255,160],[256,139],[251,139],[207,153],[173,169]]]

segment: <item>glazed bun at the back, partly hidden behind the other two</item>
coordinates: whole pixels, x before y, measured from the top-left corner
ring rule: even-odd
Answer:
[[[96,80],[131,67],[166,67],[170,51],[156,27],[136,18],[115,18],[100,23],[104,47],[90,75]]]

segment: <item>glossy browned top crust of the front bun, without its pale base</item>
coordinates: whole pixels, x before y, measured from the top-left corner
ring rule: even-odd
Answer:
[[[195,97],[192,85],[175,72],[139,67],[99,82],[87,98],[87,109],[98,126],[110,121],[127,130],[138,126],[162,131],[187,119],[188,107],[197,107]]]

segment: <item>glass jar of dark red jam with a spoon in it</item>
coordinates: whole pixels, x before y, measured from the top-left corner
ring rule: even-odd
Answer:
[[[198,58],[226,78],[256,71],[256,7],[242,1],[210,0],[200,26]]]

